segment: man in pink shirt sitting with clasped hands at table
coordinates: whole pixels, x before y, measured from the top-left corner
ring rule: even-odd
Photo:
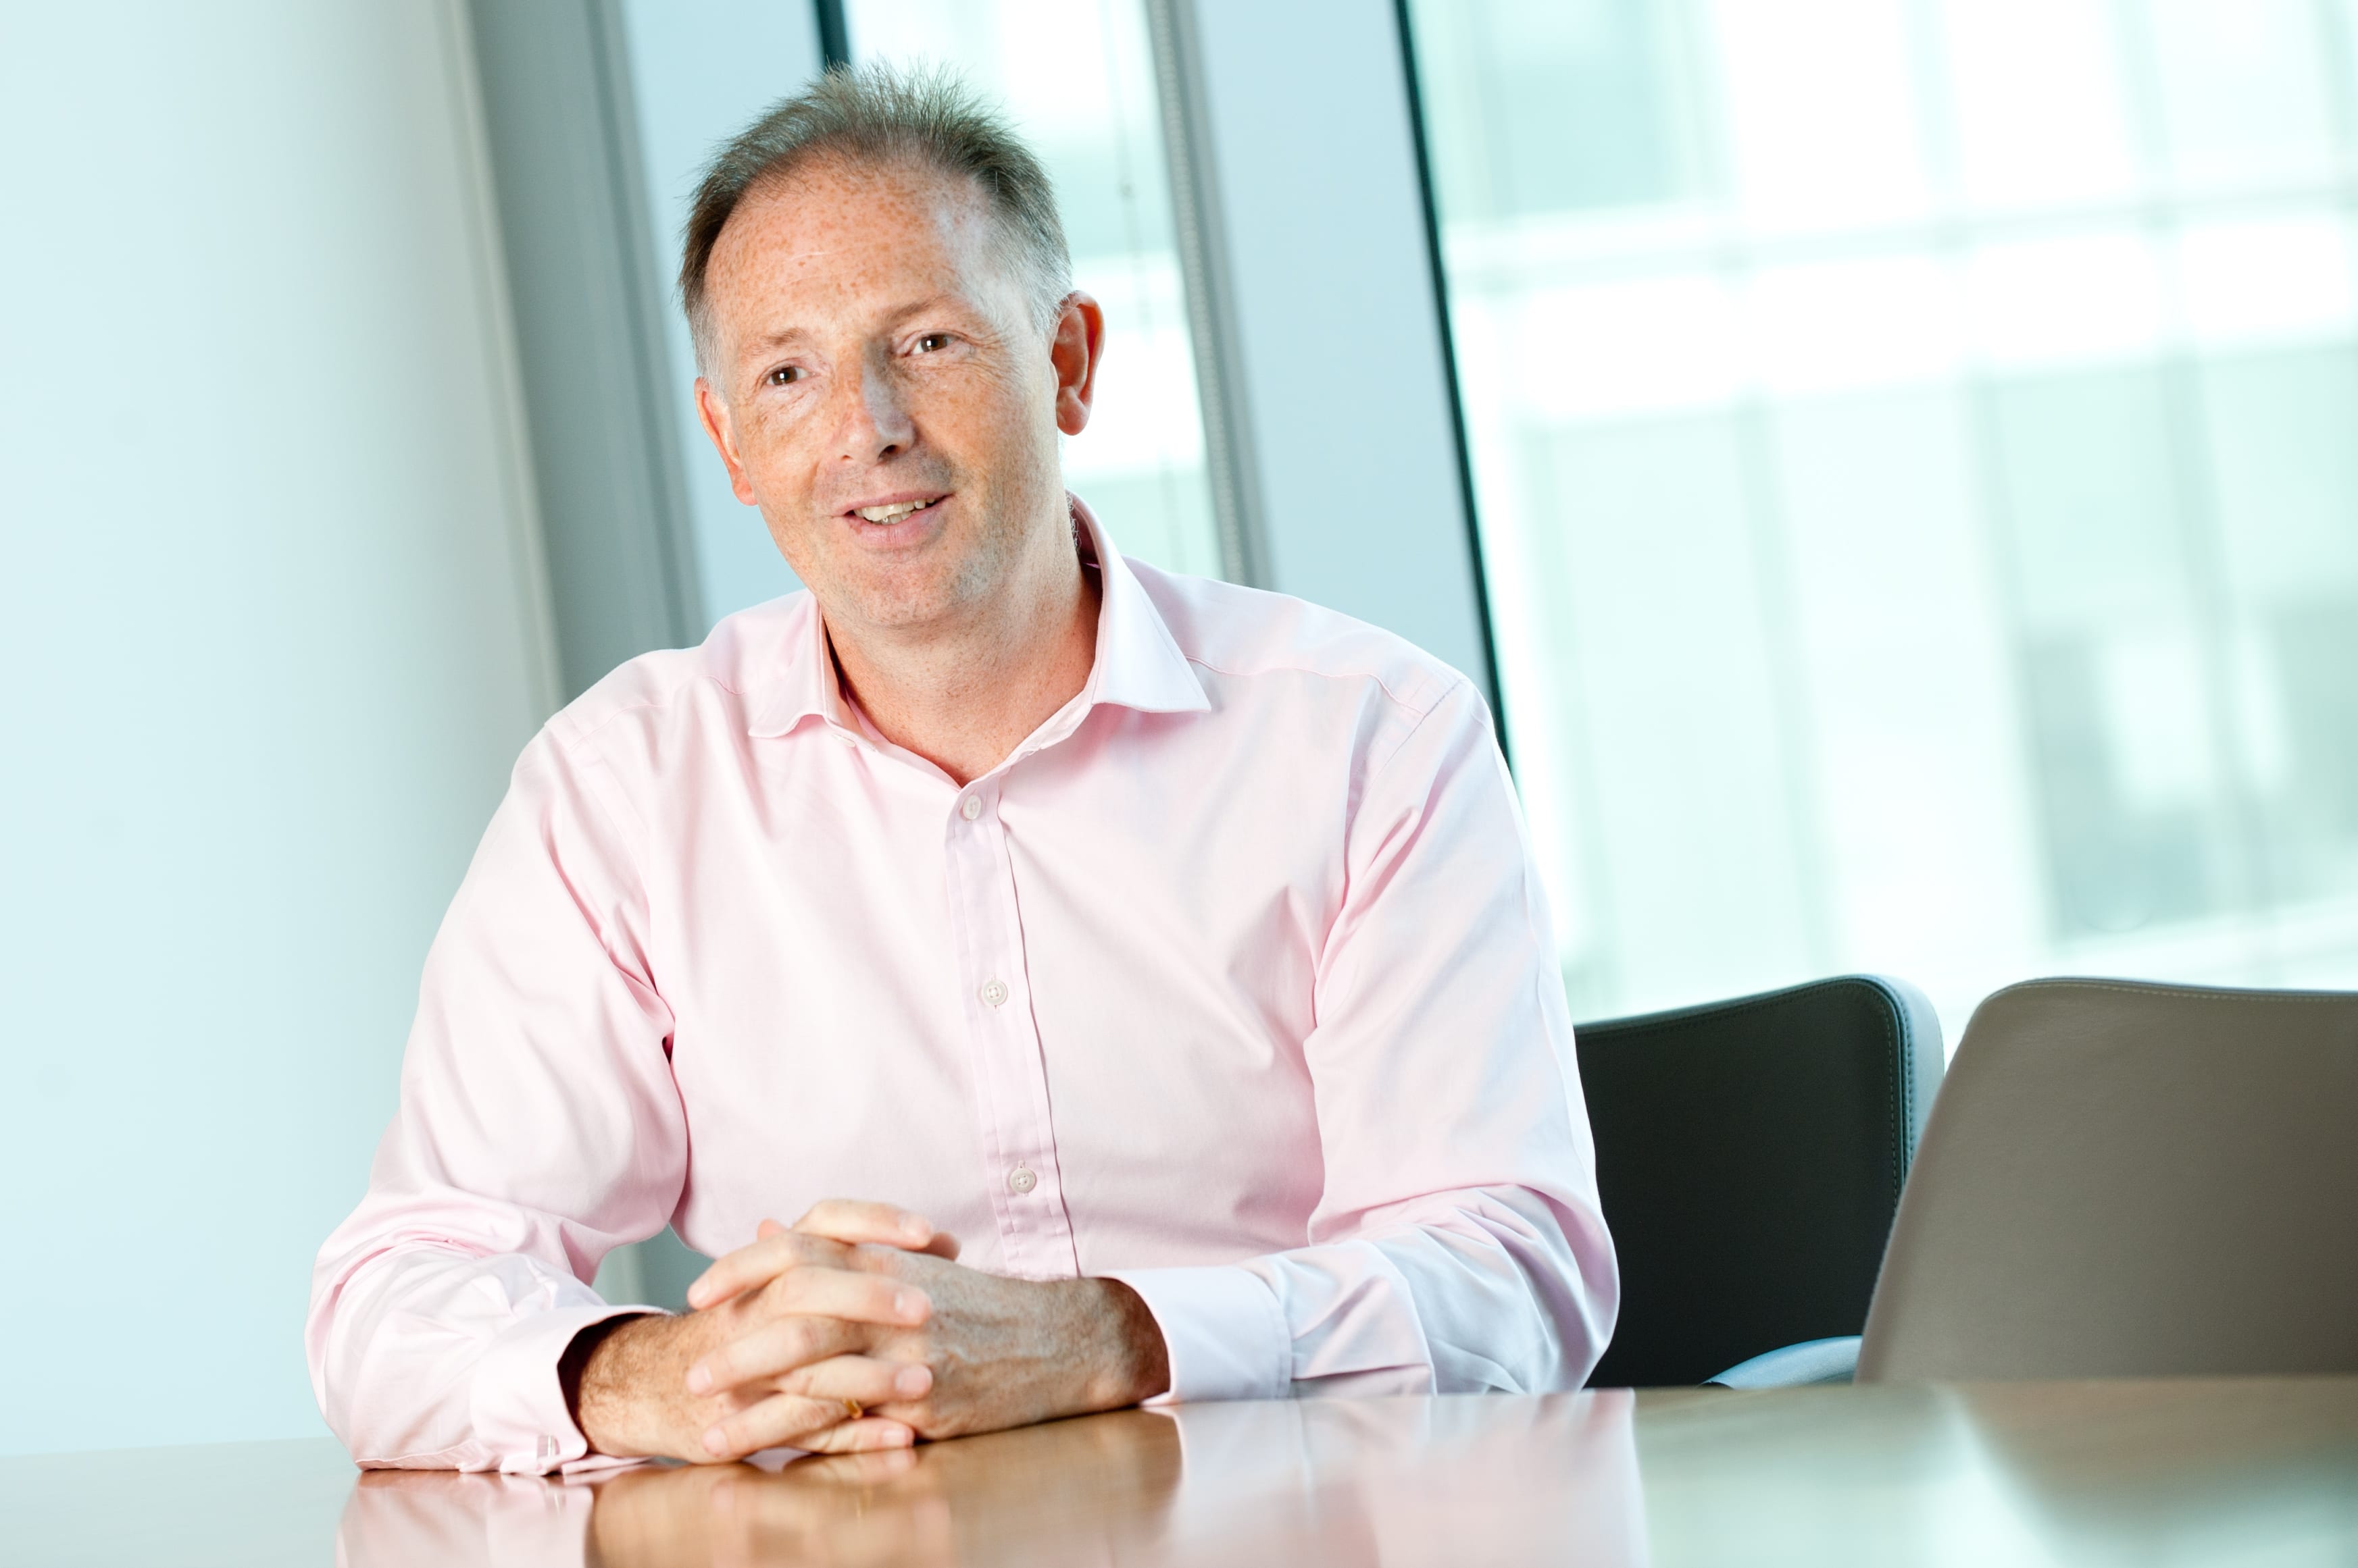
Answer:
[[[809,592],[519,759],[314,1278],[354,1457],[1578,1386],[1613,1254],[1474,689],[1063,493],[1104,316],[946,83],[830,75],[726,146],[681,297]],[[722,1254],[693,1311],[582,1285],[665,1221]]]

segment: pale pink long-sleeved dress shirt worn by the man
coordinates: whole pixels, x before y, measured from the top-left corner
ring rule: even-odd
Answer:
[[[556,1361],[630,1311],[599,1259],[832,1195],[1127,1280],[1179,1401],[1587,1377],[1613,1247],[1478,693],[1075,521],[1089,681],[967,788],[844,700],[809,594],[523,750],[314,1271],[361,1464],[585,1462]]]

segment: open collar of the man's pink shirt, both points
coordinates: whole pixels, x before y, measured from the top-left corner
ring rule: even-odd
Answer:
[[[1080,556],[1096,566],[1101,587],[1096,663],[1082,686],[1082,710],[1113,703],[1137,712],[1210,712],[1212,700],[1203,693],[1203,681],[1179,651],[1146,585],[1106,538],[1096,514],[1078,495],[1066,495],[1066,502],[1073,509]],[[783,736],[804,719],[823,719],[842,731],[858,729],[835,677],[835,653],[828,648],[828,627],[816,597],[804,601],[804,615],[780,655],[785,670],[778,672],[778,684],[750,714],[755,736]]]

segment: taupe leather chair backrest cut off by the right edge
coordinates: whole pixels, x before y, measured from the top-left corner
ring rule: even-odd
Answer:
[[[2033,981],[1974,1009],[1860,1382],[2358,1372],[2358,995]]]

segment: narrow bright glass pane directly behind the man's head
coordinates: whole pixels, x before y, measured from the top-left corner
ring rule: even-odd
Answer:
[[[1056,182],[1073,281],[1106,307],[1106,365],[1063,474],[1122,554],[1219,575],[1170,170],[1139,0],[847,0],[858,61],[950,66]]]

